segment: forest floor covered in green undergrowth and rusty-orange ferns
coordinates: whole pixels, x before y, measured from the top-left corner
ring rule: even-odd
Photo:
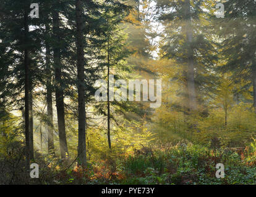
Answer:
[[[31,179],[30,184],[256,184],[255,147],[252,143],[239,154],[200,145],[147,148],[130,155],[109,154],[89,163],[87,169],[40,156],[36,158],[39,178]],[[218,163],[224,165],[224,178],[216,178]],[[17,171],[19,167],[15,172],[9,170],[4,180],[22,183]]]

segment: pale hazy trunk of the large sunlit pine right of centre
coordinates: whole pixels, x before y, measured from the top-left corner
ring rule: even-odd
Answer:
[[[195,94],[195,79],[194,79],[194,53],[192,49],[193,31],[191,25],[191,12],[190,12],[190,0],[186,0],[184,4],[185,8],[185,20],[186,20],[186,36],[188,42],[187,61],[188,61],[188,73],[187,73],[187,90],[189,97],[189,110],[197,110],[196,94]]]

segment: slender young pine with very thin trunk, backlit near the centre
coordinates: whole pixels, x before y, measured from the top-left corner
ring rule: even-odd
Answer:
[[[103,71],[106,70],[107,98],[106,111],[104,109],[105,104],[100,103],[96,106],[96,113],[106,116],[108,147],[111,149],[111,119],[114,119],[114,116],[111,115],[111,110],[113,113],[117,113],[117,111],[121,112],[119,109],[127,108],[127,106],[122,101],[117,102],[116,100],[112,100],[113,89],[110,86],[113,84],[110,84],[110,75],[111,71],[114,72],[114,79],[117,80],[121,77],[122,72],[129,70],[125,62],[129,52],[124,48],[126,38],[124,32],[121,30],[121,22],[129,14],[130,7],[122,4],[122,2],[109,1],[104,4],[103,10],[104,14],[101,18],[105,21],[103,24],[105,34],[102,36],[104,44],[101,49],[101,55],[103,57],[101,65]],[[124,66],[127,66],[127,68],[124,68]],[[102,74],[105,76],[105,73]],[[111,107],[111,104],[113,107]]]

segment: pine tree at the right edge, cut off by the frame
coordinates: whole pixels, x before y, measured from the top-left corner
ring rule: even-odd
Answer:
[[[243,89],[253,88],[253,105],[256,113],[256,2],[228,1],[224,3],[225,18],[216,22],[223,39],[221,54],[226,64],[221,70],[231,71],[234,82],[247,81]]]

